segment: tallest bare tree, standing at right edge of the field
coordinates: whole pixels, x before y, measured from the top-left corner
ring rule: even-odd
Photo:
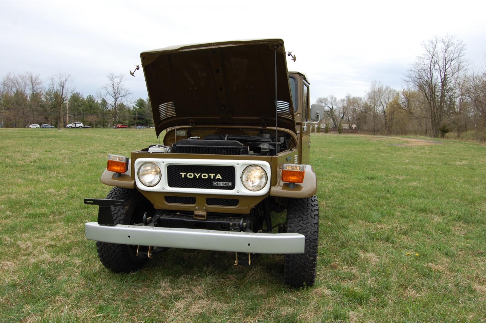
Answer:
[[[438,137],[447,100],[455,95],[457,75],[466,67],[465,45],[448,35],[429,40],[423,48],[425,52],[417,57],[405,77],[424,95],[432,133]]]

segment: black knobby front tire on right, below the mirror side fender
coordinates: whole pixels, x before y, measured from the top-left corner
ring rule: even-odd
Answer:
[[[284,280],[293,288],[312,286],[315,282],[319,238],[319,203],[317,196],[289,199],[287,232],[305,236],[303,254],[285,255]]]

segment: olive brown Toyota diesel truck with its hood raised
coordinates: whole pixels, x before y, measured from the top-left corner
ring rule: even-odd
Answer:
[[[285,283],[314,284],[319,204],[308,124],[324,108],[309,106],[309,82],[287,70],[283,41],[174,46],[140,58],[164,136],[129,157],[109,155],[101,182],[112,190],[85,199],[99,205],[86,238],[104,266],[135,271],[167,248],[231,252],[235,265],[284,254]]]

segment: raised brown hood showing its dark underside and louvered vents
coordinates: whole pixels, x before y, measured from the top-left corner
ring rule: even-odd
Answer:
[[[183,125],[275,126],[295,132],[281,39],[168,47],[140,54],[158,136]]]

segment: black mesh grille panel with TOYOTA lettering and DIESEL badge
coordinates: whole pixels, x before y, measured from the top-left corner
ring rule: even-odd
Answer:
[[[172,164],[167,166],[167,182],[170,187],[234,189],[235,172],[233,166]],[[203,178],[205,175],[207,178]]]

